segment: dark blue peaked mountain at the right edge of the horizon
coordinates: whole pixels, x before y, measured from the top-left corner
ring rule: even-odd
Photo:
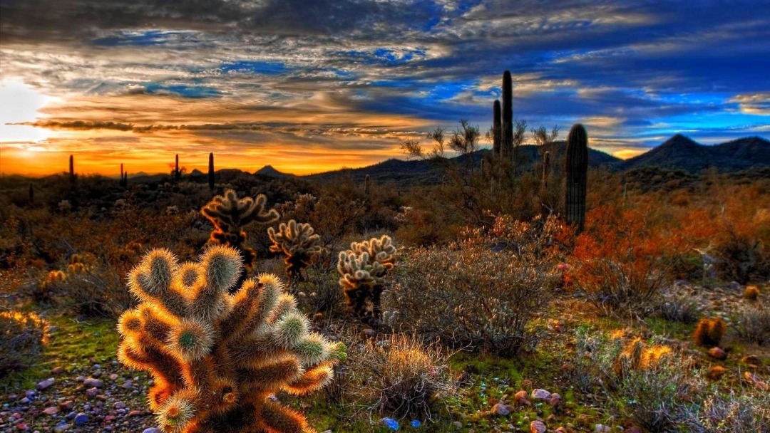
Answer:
[[[745,170],[770,165],[770,142],[765,138],[747,137],[719,145],[701,145],[685,135],[677,134],[648,152],[621,163],[620,168],[643,166],[681,168],[700,172],[715,167],[720,172]]]

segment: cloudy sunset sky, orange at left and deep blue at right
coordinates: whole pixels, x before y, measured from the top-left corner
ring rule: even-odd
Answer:
[[[515,118],[619,158],[767,138],[770,2],[0,0],[0,172],[372,165],[486,131],[505,70]]]

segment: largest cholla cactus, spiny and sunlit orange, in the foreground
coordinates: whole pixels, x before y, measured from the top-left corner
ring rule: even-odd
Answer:
[[[216,245],[179,264],[150,251],[129,273],[142,303],[123,313],[119,360],[149,371],[149,407],[169,433],[302,433],[305,417],[269,398],[304,395],[333,378],[345,346],[310,331],[273,275],[249,278],[238,252]]]

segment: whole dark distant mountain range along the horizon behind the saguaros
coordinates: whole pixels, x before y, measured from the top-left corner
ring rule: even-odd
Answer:
[[[554,161],[560,162],[564,158],[567,142],[557,141],[547,145],[523,145],[519,148],[524,169],[527,165],[534,166],[541,161],[544,152],[551,152]],[[470,155],[471,164],[480,165],[480,161],[489,150],[480,150]],[[460,158],[452,158],[450,161],[460,163]],[[703,168],[715,167],[720,172],[733,172],[752,167],[770,166],[770,142],[765,138],[746,137],[721,143],[719,145],[701,145],[685,135],[677,134],[666,140],[663,144],[652,148],[648,152],[627,160],[615,158],[612,155],[588,149],[588,165],[594,168],[606,167],[613,170],[630,170],[644,166],[681,169],[686,172],[699,172]],[[266,175],[274,178],[286,178],[293,175],[282,173],[267,165],[259,169],[255,174]],[[443,175],[442,168],[436,162],[391,158],[387,161],[362,168],[343,168],[334,172],[324,172],[316,175],[307,175],[303,178],[311,180],[330,181],[335,178],[349,176],[353,182],[363,181],[367,175],[374,181],[407,182],[430,184],[440,182]]]

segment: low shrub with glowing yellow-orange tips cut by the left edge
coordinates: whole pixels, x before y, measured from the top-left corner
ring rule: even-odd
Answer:
[[[34,313],[0,311],[0,378],[22,370],[48,336],[48,322]]]

